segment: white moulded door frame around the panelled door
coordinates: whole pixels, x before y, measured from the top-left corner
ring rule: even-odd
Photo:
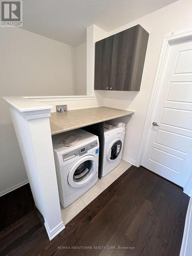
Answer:
[[[144,129],[143,129],[143,135],[139,147],[139,152],[136,160],[136,166],[139,167],[142,162],[143,153],[146,146],[147,138],[150,134],[151,130],[151,123],[152,118],[155,111],[156,102],[159,96],[160,87],[162,83],[162,78],[164,74],[164,67],[165,63],[168,58],[168,51],[171,45],[186,41],[188,39],[192,39],[192,30],[182,31],[178,33],[172,33],[170,35],[167,35],[163,38],[163,44],[160,52],[159,62],[157,66],[157,71],[155,75],[155,80],[153,84],[152,94],[150,98],[150,103],[148,105],[147,115],[145,119]],[[188,181],[186,182],[186,185],[184,187],[184,193],[192,196],[192,174],[190,175]]]

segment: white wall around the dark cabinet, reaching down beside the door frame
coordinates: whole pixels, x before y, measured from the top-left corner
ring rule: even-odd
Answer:
[[[139,92],[100,92],[104,105],[112,108],[135,110],[126,127],[123,155],[135,162],[142,137],[163,37],[172,32],[192,29],[192,1],[180,0],[151,14],[109,32],[109,35],[140,24],[150,37],[148,40],[141,89]]]

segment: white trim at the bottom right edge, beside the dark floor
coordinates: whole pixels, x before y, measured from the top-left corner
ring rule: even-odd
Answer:
[[[191,244],[191,237],[189,238],[189,230],[192,229],[192,198],[189,200],[187,214],[185,219],[185,228],[183,232],[183,240],[181,245],[180,256],[189,256],[186,254],[187,246]],[[191,234],[191,232],[190,232]]]

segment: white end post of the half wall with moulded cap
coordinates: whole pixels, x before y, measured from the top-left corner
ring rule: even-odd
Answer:
[[[52,240],[65,228],[61,219],[50,129],[51,105],[23,97],[3,97],[9,104],[15,133],[37,209]]]

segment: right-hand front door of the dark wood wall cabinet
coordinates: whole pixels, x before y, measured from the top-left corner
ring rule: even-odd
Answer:
[[[114,35],[110,88],[131,91],[138,26]]]

